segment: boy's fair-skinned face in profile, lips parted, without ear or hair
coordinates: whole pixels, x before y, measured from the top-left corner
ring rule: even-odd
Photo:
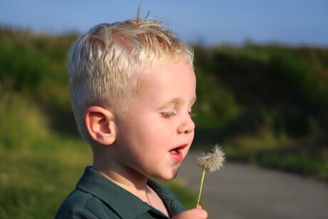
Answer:
[[[194,137],[192,66],[163,63],[145,71],[128,115],[118,121],[116,163],[125,173],[170,180]]]

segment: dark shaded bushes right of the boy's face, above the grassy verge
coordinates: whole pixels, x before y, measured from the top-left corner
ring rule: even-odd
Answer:
[[[237,134],[272,126],[304,136],[312,120],[328,131],[328,50],[245,45],[205,51],[197,46],[195,55],[196,71],[202,74],[198,99],[210,102],[210,109],[200,106],[196,112],[201,126],[225,129],[232,123],[240,127]],[[203,124],[209,112],[216,115]]]

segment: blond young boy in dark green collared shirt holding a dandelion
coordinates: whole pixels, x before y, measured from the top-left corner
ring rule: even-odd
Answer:
[[[78,130],[93,151],[56,218],[207,218],[151,178],[171,180],[195,124],[193,51],[160,22],[99,24],[68,56]]]

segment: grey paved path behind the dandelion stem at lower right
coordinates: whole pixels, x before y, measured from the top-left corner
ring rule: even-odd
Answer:
[[[177,179],[198,193],[200,175],[188,154]],[[202,200],[210,219],[328,219],[328,183],[229,161],[206,173]]]

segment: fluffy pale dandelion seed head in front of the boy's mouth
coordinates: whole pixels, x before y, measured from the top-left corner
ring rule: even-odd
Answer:
[[[223,153],[218,145],[215,145],[212,149],[212,153],[206,154],[203,152],[196,158],[200,168],[214,172],[222,167],[225,161],[225,153]]]

